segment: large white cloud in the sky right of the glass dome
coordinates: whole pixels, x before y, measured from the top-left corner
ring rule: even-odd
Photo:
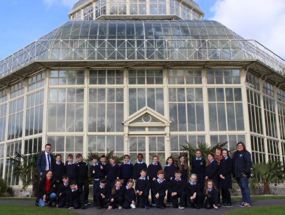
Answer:
[[[284,0],[217,0],[211,12],[210,19],[285,58]]]

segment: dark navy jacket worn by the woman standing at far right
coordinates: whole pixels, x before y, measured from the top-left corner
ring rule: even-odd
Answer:
[[[235,178],[242,178],[243,174],[250,178],[250,169],[252,167],[251,155],[247,151],[238,152],[232,155],[232,174]]]

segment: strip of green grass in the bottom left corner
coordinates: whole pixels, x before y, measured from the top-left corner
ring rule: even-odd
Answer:
[[[51,207],[35,207],[35,206],[25,206],[25,205],[8,205],[0,204],[1,214],[13,214],[13,215],[33,215],[33,214],[57,214],[57,215],[67,215],[67,214],[79,214],[77,212],[68,209],[59,209]]]

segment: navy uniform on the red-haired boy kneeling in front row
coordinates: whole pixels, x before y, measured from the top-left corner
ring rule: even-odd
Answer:
[[[167,181],[165,181],[164,179],[162,181],[160,181],[159,179],[153,181],[152,183],[152,192],[153,192],[153,198],[156,204],[157,208],[160,207],[164,207],[163,205],[163,200],[165,197],[165,192],[167,191]],[[155,195],[159,194],[159,198],[156,199]]]

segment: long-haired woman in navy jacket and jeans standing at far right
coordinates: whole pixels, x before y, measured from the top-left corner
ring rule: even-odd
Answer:
[[[250,207],[249,178],[252,167],[251,154],[246,150],[243,142],[236,144],[236,151],[232,155],[232,174],[242,191],[241,207]]]

